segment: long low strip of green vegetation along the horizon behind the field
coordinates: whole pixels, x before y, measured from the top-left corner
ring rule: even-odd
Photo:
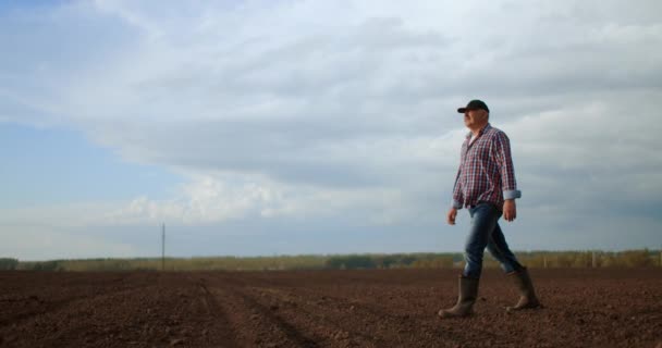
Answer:
[[[662,268],[660,250],[516,252],[529,268]],[[464,265],[462,253],[364,253],[335,256],[167,258],[166,271],[279,271],[426,268]],[[486,252],[486,268],[499,263]],[[19,261],[1,259],[0,271],[160,271],[160,258]]]

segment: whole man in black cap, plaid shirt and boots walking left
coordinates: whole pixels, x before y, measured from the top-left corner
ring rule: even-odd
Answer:
[[[515,220],[515,199],[522,197],[515,183],[510,140],[505,133],[490,125],[490,109],[485,102],[471,100],[457,112],[464,113],[464,124],[471,132],[462,146],[453,207],[446,219],[454,225],[457,210],[466,207],[471,226],[465,245],[466,263],[459,276],[457,303],[440,310],[439,316],[458,318],[473,313],[486,247],[519,290],[519,301],[508,310],[540,308],[531,278],[508,248],[498,223],[501,215],[508,222]]]

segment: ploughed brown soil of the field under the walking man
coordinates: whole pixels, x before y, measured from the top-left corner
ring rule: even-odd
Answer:
[[[662,347],[662,270],[488,271],[477,314],[437,318],[456,270],[0,272],[1,347]]]

